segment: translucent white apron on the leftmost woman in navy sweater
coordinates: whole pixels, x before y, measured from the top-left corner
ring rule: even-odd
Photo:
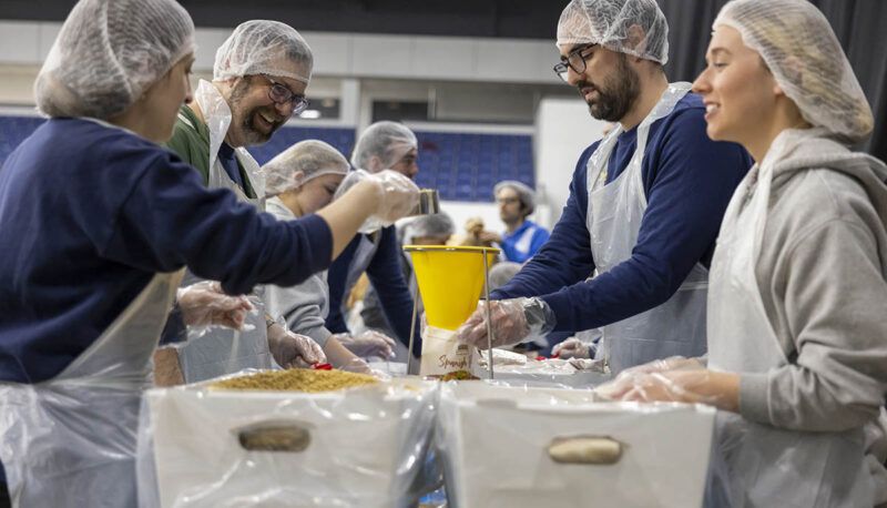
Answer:
[[[155,274],[58,376],[0,384],[0,460],[13,507],[136,505],[140,399],[183,273]]]

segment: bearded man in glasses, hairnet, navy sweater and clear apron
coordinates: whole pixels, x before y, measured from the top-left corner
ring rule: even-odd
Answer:
[[[579,159],[549,241],[491,295],[495,345],[604,326],[613,372],[705,352],[707,266],[752,164],[742,146],[705,135],[690,83],[667,82],[667,32],[653,0],[563,10],[554,71],[592,116],[618,123]],[[462,341],[486,347],[485,315],[462,325]]]

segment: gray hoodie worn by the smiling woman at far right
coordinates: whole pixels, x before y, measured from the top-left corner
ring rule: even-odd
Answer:
[[[868,424],[869,451],[883,455],[884,414],[876,418],[887,394],[887,166],[817,130],[776,141],[764,160],[774,170],[755,275],[791,363],[743,374],[740,412],[797,430]],[[881,499],[884,459],[869,457]]]

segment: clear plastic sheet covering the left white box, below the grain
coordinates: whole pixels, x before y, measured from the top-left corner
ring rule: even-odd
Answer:
[[[426,481],[439,475],[428,458],[436,383],[319,394],[217,392],[210,383],[145,394],[140,506],[388,508],[437,487]],[[294,435],[285,450],[251,445]]]

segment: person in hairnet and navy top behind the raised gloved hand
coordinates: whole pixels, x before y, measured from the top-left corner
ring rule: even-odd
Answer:
[[[376,122],[368,126],[351,154],[351,165],[369,173],[385,169],[412,179],[419,173],[416,165],[419,144],[416,134],[397,122]],[[394,226],[373,234],[357,235],[329,267],[329,315],[326,327],[334,334],[350,333],[345,323],[345,305],[360,274],[367,273],[376,289],[383,311],[401,344],[409,344],[412,319],[412,297],[400,270],[400,247]],[[421,353],[417,319],[412,355]],[[406,356],[398,358],[406,362]]]

